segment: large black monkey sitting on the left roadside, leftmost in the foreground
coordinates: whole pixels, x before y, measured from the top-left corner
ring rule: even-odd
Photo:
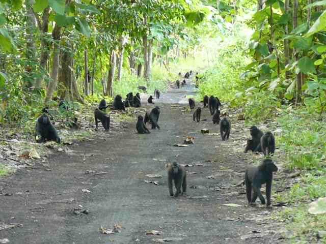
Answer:
[[[34,137],[38,143],[45,141],[56,141],[60,143],[61,141],[56,128],[53,127],[50,118],[46,114],[42,114],[38,117],[35,125]]]

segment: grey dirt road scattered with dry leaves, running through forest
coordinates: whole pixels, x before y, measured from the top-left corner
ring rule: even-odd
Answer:
[[[219,126],[212,124],[208,109],[203,110],[202,119],[207,120],[201,123],[192,121],[192,112],[182,112],[188,107],[185,95],[191,94],[192,85],[162,94],[155,101],[161,110],[161,129],[149,135],[136,134],[135,122],[125,123],[119,133],[98,132],[95,140],[71,146],[73,155],[56,154],[47,164],[37,163],[33,169],[0,179],[0,240],[8,238],[15,244],[160,243],[161,239],[187,244],[277,243],[263,221],[270,211],[245,206],[244,188],[235,186],[247,167],[245,156],[230,149],[238,140],[237,131],[231,130],[227,142],[200,134],[202,128],[219,133]],[[188,135],[196,137],[194,145],[172,146]],[[166,164],[173,161],[194,165],[187,167],[187,196],[169,196]],[[144,180],[155,180],[158,186]],[[241,206],[223,205],[228,203]],[[89,212],[78,214],[74,208]],[[260,220],[255,220],[257,216]],[[1,224],[9,223],[22,226],[2,230]],[[100,226],[115,224],[123,227],[120,233],[99,232]],[[151,230],[162,234],[146,235]]]

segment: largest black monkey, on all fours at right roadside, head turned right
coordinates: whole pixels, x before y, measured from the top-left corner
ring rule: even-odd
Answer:
[[[252,166],[246,170],[244,182],[246,183],[246,192],[249,205],[253,205],[257,197],[259,197],[261,204],[265,204],[265,199],[261,195],[260,188],[261,185],[266,184],[266,207],[270,206],[270,192],[273,182],[273,172],[277,171],[277,166],[270,159],[264,159],[259,166]]]

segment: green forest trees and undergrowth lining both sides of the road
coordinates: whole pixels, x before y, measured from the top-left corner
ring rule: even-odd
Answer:
[[[49,106],[64,130],[73,117],[82,121],[85,130],[67,138],[84,140],[101,99],[124,99],[139,86],[165,92],[193,70],[196,100],[217,96],[246,125],[278,131],[275,159],[297,177],[277,194],[287,205],[275,218],[289,241],[315,240],[326,226],[324,214],[308,212],[326,197],[324,1],[91,2],[0,3],[1,139],[34,140],[35,120]],[[58,109],[58,98],[69,111]],[[131,119],[132,110],[116,116]],[[0,176],[11,172],[0,164]]]

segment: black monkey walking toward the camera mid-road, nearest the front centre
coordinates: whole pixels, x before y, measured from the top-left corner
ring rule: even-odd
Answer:
[[[174,186],[176,188],[176,193],[173,194],[173,183],[172,180],[174,180]],[[168,186],[169,186],[169,192],[170,196],[177,197],[179,194],[186,193],[187,191],[187,173],[183,166],[179,165],[177,162],[173,162],[168,167]],[[182,192],[181,192],[182,187]]]

